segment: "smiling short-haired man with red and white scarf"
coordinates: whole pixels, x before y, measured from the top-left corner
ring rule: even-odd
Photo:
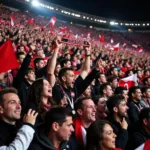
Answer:
[[[75,103],[77,118],[74,120],[75,138],[81,149],[86,145],[86,130],[96,120],[96,107],[91,97],[79,98]]]

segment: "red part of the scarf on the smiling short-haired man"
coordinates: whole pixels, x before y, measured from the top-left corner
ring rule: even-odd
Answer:
[[[75,119],[74,120],[74,125],[75,125],[75,136],[77,138],[77,141],[79,141],[83,145],[83,137],[82,137],[82,123],[80,119]]]

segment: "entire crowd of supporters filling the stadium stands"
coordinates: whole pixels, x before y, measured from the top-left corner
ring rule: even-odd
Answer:
[[[11,13],[0,7],[0,46],[10,41],[19,63],[0,72],[0,150],[134,150],[149,140],[148,33],[97,31],[59,20],[52,30],[49,18],[21,11],[14,12],[12,27]],[[27,23],[31,18],[34,23]],[[115,43],[118,51],[106,46]],[[119,86],[134,74],[134,86]]]

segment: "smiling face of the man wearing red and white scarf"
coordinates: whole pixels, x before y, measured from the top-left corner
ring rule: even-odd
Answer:
[[[96,120],[95,114],[96,114],[96,107],[94,102],[91,99],[87,99],[83,101],[83,109],[81,112],[81,117],[86,121],[86,122],[93,122]]]

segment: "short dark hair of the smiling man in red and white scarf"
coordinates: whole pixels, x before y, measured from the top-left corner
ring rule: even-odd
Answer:
[[[85,101],[87,99],[91,99],[91,97],[85,96],[85,97],[79,98],[74,104],[75,110],[77,111],[78,109],[83,109],[83,101]]]

